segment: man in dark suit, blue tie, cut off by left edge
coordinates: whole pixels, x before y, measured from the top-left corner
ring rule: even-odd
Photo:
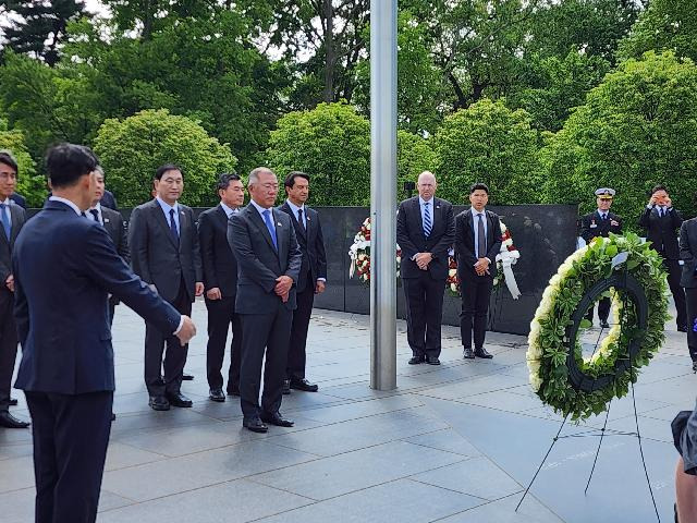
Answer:
[[[28,423],[10,414],[10,388],[17,355],[14,323],[14,276],[12,250],[26,221],[24,209],[11,204],[17,185],[17,162],[10,151],[0,151],[0,427],[26,428]]]

